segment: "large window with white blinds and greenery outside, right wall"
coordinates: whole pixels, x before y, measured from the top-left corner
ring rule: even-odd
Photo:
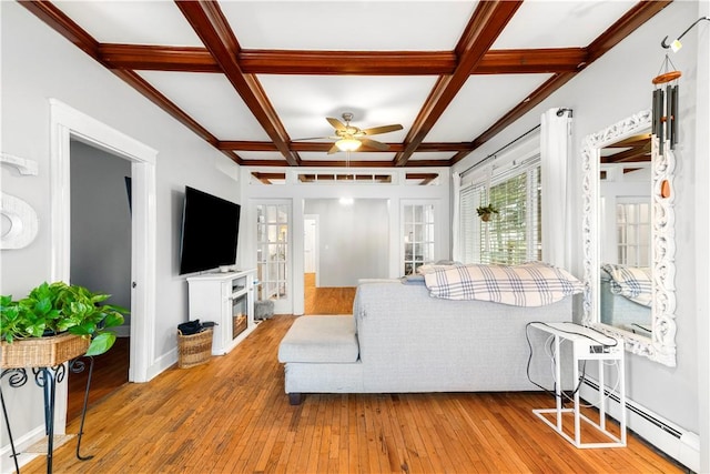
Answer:
[[[541,260],[540,160],[535,157],[491,175],[469,181],[460,190],[460,259],[465,263],[518,264]],[[476,209],[498,210],[488,222]]]

